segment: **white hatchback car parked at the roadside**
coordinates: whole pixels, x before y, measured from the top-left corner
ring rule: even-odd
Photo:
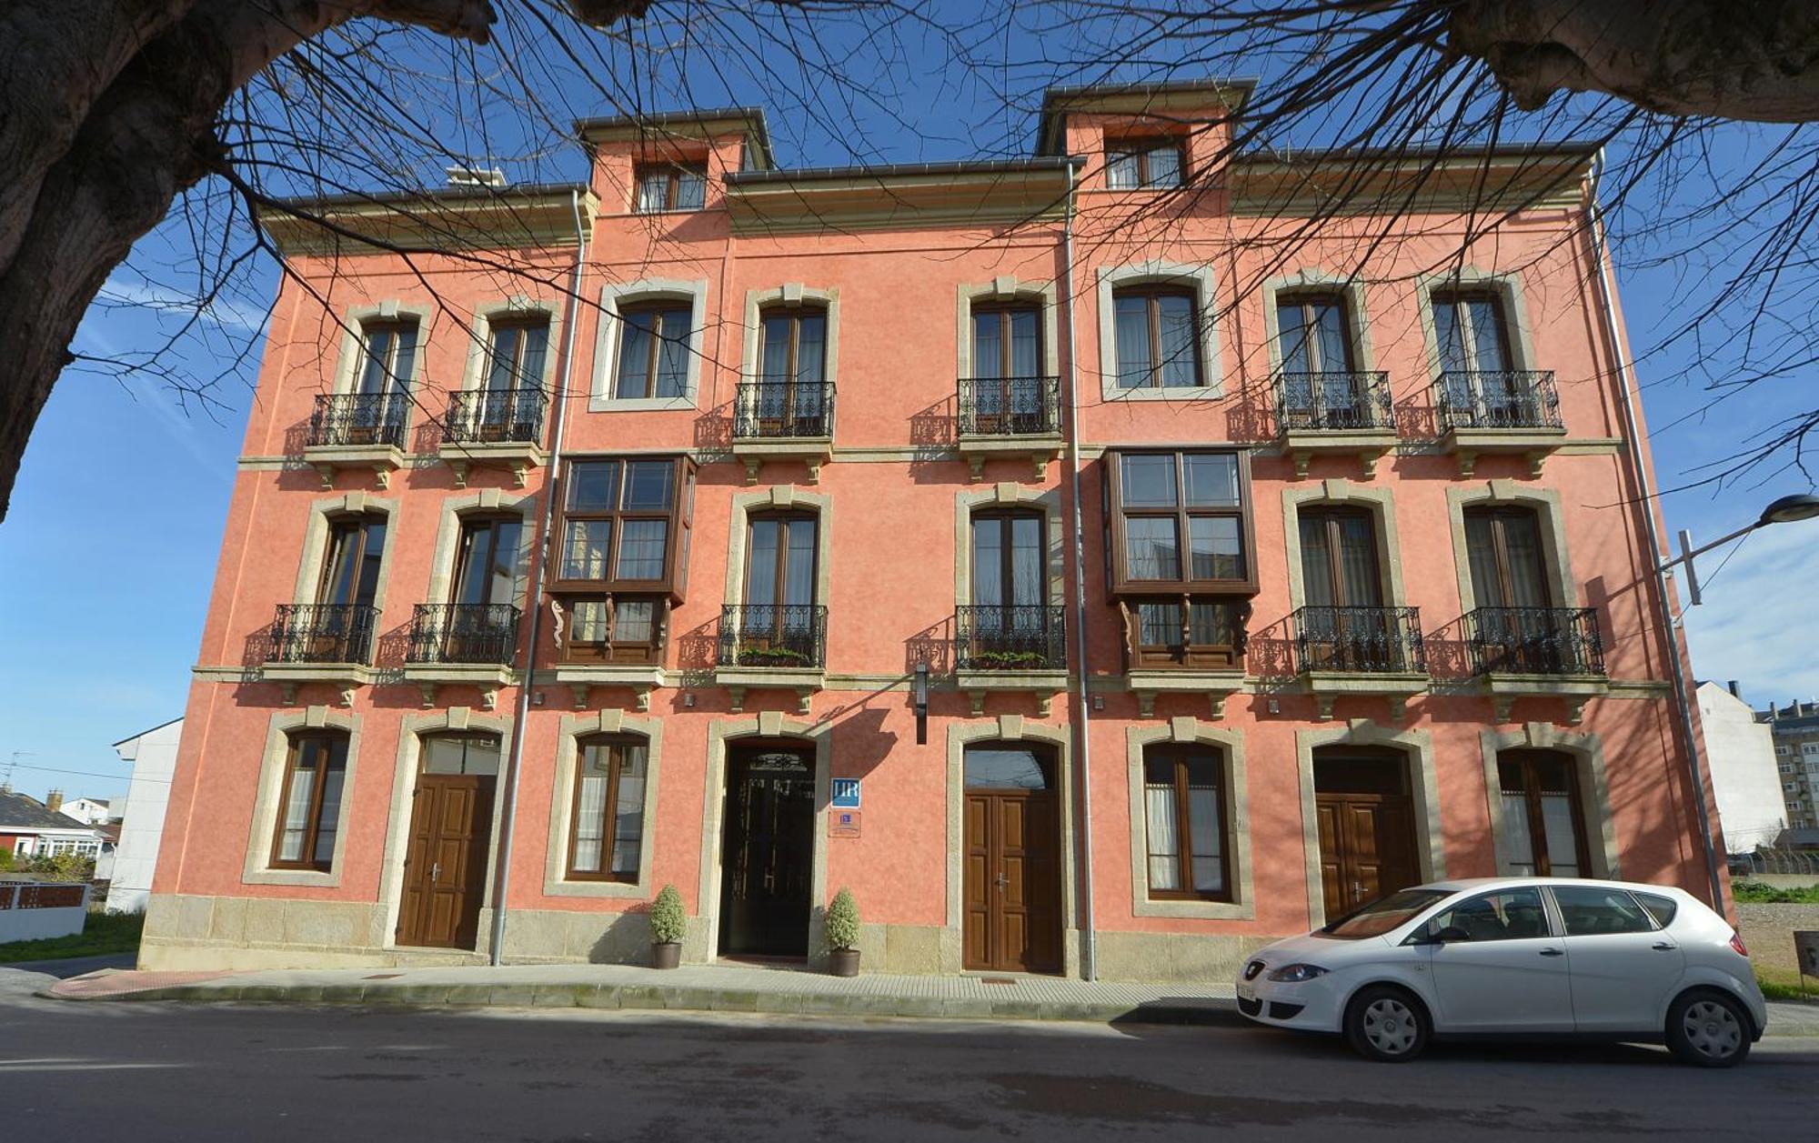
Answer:
[[[1239,968],[1239,1012],[1368,1059],[1435,1036],[1597,1037],[1734,1067],[1768,1025],[1737,932],[1657,885],[1486,877],[1404,888]]]

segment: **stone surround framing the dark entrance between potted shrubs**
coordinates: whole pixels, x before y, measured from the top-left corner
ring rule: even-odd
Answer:
[[[700,815],[700,885],[695,908],[704,917],[708,961],[720,957],[720,848],[722,810],[726,806],[726,752],[740,739],[788,739],[815,748],[815,826],[813,855],[808,886],[808,950],[809,963],[826,963],[826,901],[828,901],[828,828],[822,821],[831,799],[833,724],[786,719],[779,710],[766,710],[748,719],[715,719],[708,724],[708,775]]]

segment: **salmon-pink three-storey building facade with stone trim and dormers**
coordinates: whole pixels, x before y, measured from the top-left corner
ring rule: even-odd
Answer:
[[[1699,892],[1590,153],[1210,171],[1246,95],[267,213],[142,963],[644,963],[664,885],[819,963],[849,886],[868,970],[1222,979],[1426,879]]]

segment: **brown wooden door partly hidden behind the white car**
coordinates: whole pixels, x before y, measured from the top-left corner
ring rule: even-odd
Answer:
[[[1313,759],[1326,919],[1421,881],[1408,763],[1395,752]]]

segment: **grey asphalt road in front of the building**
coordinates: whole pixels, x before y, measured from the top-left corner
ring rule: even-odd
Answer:
[[[1266,1028],[67,1003],[0,968],[0,1138],[1812,1139],[1819,1039],[1370,1065]],[[1699,1136],[1693,1136],[1699,1138]]]

